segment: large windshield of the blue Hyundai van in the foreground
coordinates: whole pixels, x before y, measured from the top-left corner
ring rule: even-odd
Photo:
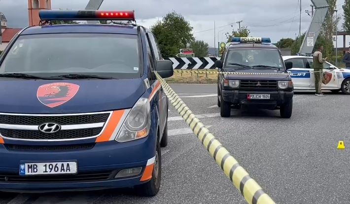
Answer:
[[[141,76],[137,35],[36,34],[20,36],[0,66],[0,74],[53,77],[89,74],[113,78]]]

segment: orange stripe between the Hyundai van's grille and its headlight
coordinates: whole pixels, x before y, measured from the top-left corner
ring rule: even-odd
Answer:
[[[110,117],[104,132],[102,133],[101,136],[96,138],[96,142],[109,141],[109,138],[112,136],[115,128],[121,122],[120,119],[123,117],[124,112],[125,110],[113,111],[112,116]]]

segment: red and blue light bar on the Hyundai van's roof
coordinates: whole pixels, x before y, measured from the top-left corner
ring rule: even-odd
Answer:
[[[135,21],[134,10],[40,10],[41,21]]]

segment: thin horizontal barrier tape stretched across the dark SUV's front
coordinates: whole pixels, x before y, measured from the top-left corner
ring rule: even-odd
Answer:
[[[325,72],[327,70],[320,71],[309,71],[309,72],[277,72],[277,73],[264,73],[264,72],[227,72],[227,71],[198,71],[191,69],[174,69],[174,72],[178,73],[199,73],[199,74],[236,74],[236,75],[292,75],[298,73],[315,73],[315,72]]]

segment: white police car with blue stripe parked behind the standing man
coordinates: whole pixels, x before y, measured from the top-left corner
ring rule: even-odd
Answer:
[[[293,68],[288,72],[291,73],[294,90],[315,90],[313,57],[283,56],[283,60],[293,63]],[[342,91],[350,95],[350,69],[337,68],[329,62],[324,63],[322,90],[334,93]]]

